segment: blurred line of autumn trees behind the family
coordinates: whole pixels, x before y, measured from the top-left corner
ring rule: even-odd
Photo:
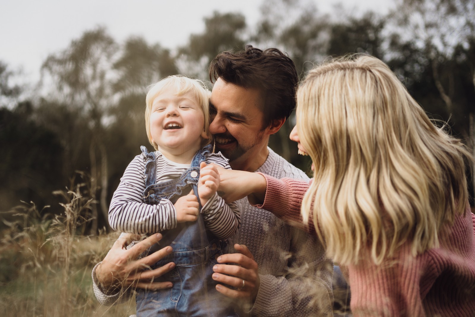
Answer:
[[[86,233],[107,226],[108,202],[123,170],[148,144],[147,86],[176,73],[208,79],[207,67],[218,52],[247,43],[283,49],[301,77],[328,56],[363,52],[381,58],[429,115],[448,121],[451,132],[474,149],[473,1],[397,5],[384,16],[342,8],[323,14],[311,0],[265,0],[256,25],[249,26],[241,13],[215,11],[203,19],[202,32],[173,49],[140,36],[118,43],[104,28],[87,30],[46,58],[42,89],[30,101],[19,100],[22,87],[11,84],[14,73],[0,62],[0,210],[24,200],[58,213],[58,198],[50,192],[80,170],[90,175],[89,194],[98,202],[85,214],[94,220]],[[308,158],[288,139],[294,124],[292,115],[270,146],[311,173]]]

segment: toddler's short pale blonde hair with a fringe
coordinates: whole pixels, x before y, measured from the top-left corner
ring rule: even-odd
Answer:
[[[211,134],[209,133],[209,97],[211,96],[211,91],[209,91],[203,81],[184,75],[164,77],[157,83],[149,86],[147,96],[145,97],[145,128],[150,144],[153,145],[155,150],[158,150],[158,145],[153,142],[152,134],[150,134],[150,114],[152,112],[153,100],[167,89],[173,89],[177,96],[191,92],[196,98],[196,101],[203,110],[205,118],[204,131],[208,135],[208,139],[203,140],[203,144],[201,145],[205,146],[209,144],[211,142]]]

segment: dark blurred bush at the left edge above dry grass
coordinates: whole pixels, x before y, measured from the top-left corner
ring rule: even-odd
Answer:
[[[25,101],[9,110],[0,108],[0,210],[20,200],[40,205],[51,202],[51,192],[62,179],[63,148],[57,134],[33,118],[33,106]],[[48,155],[45,155],[48,153]]]

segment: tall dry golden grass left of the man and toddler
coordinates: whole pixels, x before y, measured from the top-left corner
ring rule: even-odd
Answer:
[[[81,175],[84,178],[84,174]],[[91,270],[118,234],[85,236],[90,208],[88,182],[54,192],[63,213],[38,211],[33,203],[15,208],[0,232],[0,316],[129,316],[135,300],[101,306],[92,290]]]

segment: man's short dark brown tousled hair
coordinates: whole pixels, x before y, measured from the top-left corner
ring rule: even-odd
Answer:
[[[264,97],[264,126],[287,119],[295,108],[298,77],[294,62],[277,48],[262,51],[252,45],[236,53],[219,53],[209,65],[211,82],[221,78],[244,88],[257,88]]]

